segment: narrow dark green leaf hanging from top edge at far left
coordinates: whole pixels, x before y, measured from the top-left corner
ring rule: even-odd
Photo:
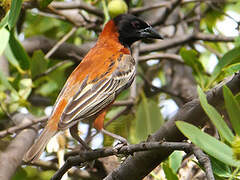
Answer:
[[[12,0],[8,19],[8,26],[10,29],[12,29],[15,26],[21,11],[21,7],[22,0]]]

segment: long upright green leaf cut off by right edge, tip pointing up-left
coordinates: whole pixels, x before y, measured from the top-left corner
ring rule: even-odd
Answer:
[[[236,134],[240,135],[240,106],[227,86],[223,86],[223,95],[232,127]]]

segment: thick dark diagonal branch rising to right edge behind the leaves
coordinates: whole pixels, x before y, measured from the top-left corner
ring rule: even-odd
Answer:
[[[240,73],[236,74],[229,82],[227,82],[227,86],[234,94],[240,91],[239,84]],[[207,99],[208,102],[217,109],[221,108],[224,102],[222,86],[208,91]],[[208,119],[200,105],[199,100],[194,99],[193,101],[185,104],[171,120],[165,123],[149,138],[149,141],[161,141],[164,139],[166,141],[179,142],[186,139],[175,125],[175,121],[177,120],[185,121],[198,127],[203,127]],[[171,150],[135,153],[134,156],[128,157],[120,167],[110,173],[105,180],[142,179],[171,153]]]

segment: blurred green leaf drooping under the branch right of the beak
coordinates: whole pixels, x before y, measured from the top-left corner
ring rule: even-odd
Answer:
[[[181,48],[180,55],[184,62],[192,68],[193,75],[197,82],[201,84],[201,87],[204,87],[206,80],[203,74],[205,72],[202,63],[199,61],[198,53],[192,49],[187,50],[186,48]]]

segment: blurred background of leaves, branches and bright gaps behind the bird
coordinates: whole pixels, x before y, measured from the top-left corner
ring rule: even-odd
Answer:
[[[35,119],[49,114],[67,77],[96,42],[108,18],[108,3],[110,1],[103,0],[1,1],[2,133],[7,128],[21,124],[21,119],[16,121],[13,118],[16,113],[30,113]],[[178,108],[196,98],[197,85],[207,91],[239,71],[240,2],[126,0],[126,4],[130,13],[146,19],[165,37],[163,41],[146,40],[134,45],[133,56],[138,60],[136,81],[130,89],[120,94],[105,119],[106,123],[116,119],[109,123],[107,130],[127,138],[131,144],[136,144],[157,131],[174,116]],[[226,19],[228,23],[231,21],[235,24],[237,29],[230,25],[227,27],[226,23],[224,27],[219,26],[219,22]],[[224,34],[227,28],[232,32],[230,36]],[[239,106],[239,95],[234,98]],[[171,113],[173,108],[175,112]],[[231,118],[229,120],[224,108],[220,113],[231,128]],[[193,118],[198,121],[197,117]],[[94,130],[89,131],[88,126],[82,126],[86,127],[80,130],[83,137],[95,133]],[[217,134],[211,123],[207,123],[206,127],[210,129],[211,135]],[[217,130],[221,132],[221,127]],[[16,133],[18,131],[1,136],[2,152],[6,152]],[[233,136],[236,134],[237,132]],[[110,137],[101,135],[90,140],[95,148],[112,146],[114,142]],[[230,144],[229,142],[228,145],[232,148]],[[12,179],[50,179],[57,165],[56,160],[51,161],[51,165],[46,164],[45,161],[50,159],[47,156],[57,154],[61,158],[60,150],[75,148],[77,143],[65,134],[52,141],[52,146],[59,148],[54,149],[50,145],[49,151],[55,152],[46,152],[42,164],[21,166]],[[205,149],[204,151],[206,152]],[[196,164],[184,166],[184,162],[191,158],[192,156],[189,158],[182,152],[175,151],[146,179],[185,179],[184,173],[190,179],[197,176],[204,179],[205,175],[200,168],[193,172]],[[106,162],[119,165],[119,159],[104,159],[100,163],[103,166]],[[218,165],[222,163],[218,160],[214,162]],[[105,175],[117,165],[105,167]],[[239,169],[228,164],[221,166],[223,169],[217,169],[220,173],[215,171],[218,179],[237,178]],[[184,171],[184,167],[188,167],[188,170]],[[96,168],[95,171],[97,173],[89,169],[75,170],[69,176],[72,179],[101,179],[101,168]]]

